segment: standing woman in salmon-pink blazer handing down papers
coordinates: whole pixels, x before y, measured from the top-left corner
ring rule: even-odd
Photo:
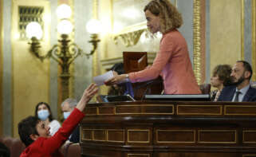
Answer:
[[[151,33],[160,32],[160,51],[153,65],[139,72],[116,75],[105,84],[125,81],[142,82],[163,78],[165,94],[200,94],[188,54],[187,42],[178,28],[182,26],[181,14],[167,0],[152,0],[144,7],[147,26]]]

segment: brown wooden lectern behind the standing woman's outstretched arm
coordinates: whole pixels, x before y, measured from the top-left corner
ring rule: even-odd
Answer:
[[[124,72],[132,73],[145,69],[148,66],[146,52],[124,52]],[[155,80],[132,84],[135,100],[142,100],[146,94],[160,94],[163,91],[163,80],[158,77]]]

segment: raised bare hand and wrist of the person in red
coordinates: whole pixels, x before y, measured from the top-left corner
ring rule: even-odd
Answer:
[[[98,92],[96,84],[90,84],[89,87],[85,89],[81,100],[78,102],[77,109],[83,112],[86,104],[95,96],[96,92]]]

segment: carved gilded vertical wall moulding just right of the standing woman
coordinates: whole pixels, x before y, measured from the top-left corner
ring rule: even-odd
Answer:
[[[201,82],[201,37],[200,37],[200,0],[194,0],[193,2],[194,5],[194,28],[193,28],[193,63],[194,63],[194,73],[195,73],[195,78],[198,82],[198,84]]]

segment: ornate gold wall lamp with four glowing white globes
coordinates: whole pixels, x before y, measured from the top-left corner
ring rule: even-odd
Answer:
[[[93,55],[96,51],[97,44],[100,41],[98,39],[98,33],[100,33],[100,22],[96,19],[90,20],[87,23],[87,30],[91,34],[91,40],[89,43],[92,43],[93,49],[90,53],[83,52],[75,43],[70,43],[69,33],[73,31],[73,25],[69,21],[71,16],[70,6],[62,4],[57,7],[57,18],[61,21],[57,25],[57,32],[61,34],[61,39],[58,40],[59,44],[53,45],[52,49],[49,49],[44,55],[41,54],[41,45],[40,40],[42,37],[42,29],[39,23],[30,22],[26,26],[26,35],[30,38],[30,52],[33,53],[41,61],[44,61],[46,58],[53,58],[54,61],[57,61],[61,65],[61,86],[62,86],[62,96],[61,100],[65,100],[69,97],[69,66],[78,56],[87,56]]]

